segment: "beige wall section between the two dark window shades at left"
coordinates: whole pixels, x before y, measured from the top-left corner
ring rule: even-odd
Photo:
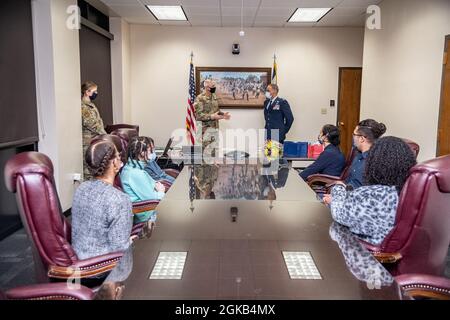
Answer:
[[[33,33],[39,112],[39,151],[55,167],[63,210],[72,206],[73,174],[82,172],[78,30],[66,27],[76,0],[34,0]]]

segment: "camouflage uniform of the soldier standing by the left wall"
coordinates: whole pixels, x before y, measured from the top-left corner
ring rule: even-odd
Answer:
[[[106,134],[106,131],[100,113],[93,102],[82,100],[81,119],[83,127],[83,173],[84,180],[89,180],[92,178],[92,175],[88,170],[84,155],[89,148],[92,138],[100,134]]]

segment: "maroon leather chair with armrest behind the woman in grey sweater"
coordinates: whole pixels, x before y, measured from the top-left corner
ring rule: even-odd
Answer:
[[[113,269],[121,252],[79,260],[71,246],[71,226],[62,214],[50,159],[23,152],[5,166],[5,182],[16,194],[22,223],[32,243],[38,281],[100,276]],[[78,272],[74,274],[74,270]]]

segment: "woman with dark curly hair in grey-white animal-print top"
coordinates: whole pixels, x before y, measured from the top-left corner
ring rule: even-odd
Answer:
[[[415,164],[414,153],[402,139],[379,139],[367,156],[365,185],[353,191],[347,191],[343,183],[332,188],[333,219],[363,240],[380,244],[394,227],[399,194]]]

